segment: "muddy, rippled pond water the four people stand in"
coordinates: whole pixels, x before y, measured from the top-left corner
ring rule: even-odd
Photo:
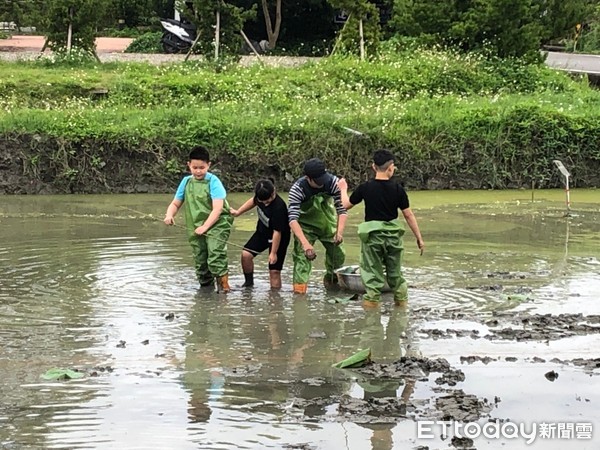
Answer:
[[[572,199],[566,219],[560,191],[413,193],[410,305],[364,311],[322,288],[319,247],[306,298],[291,257],[279,293],[264,256],[254,289],[199,290],[183,230],[131,210],[162,217],[170,196],[0,197],[0,448],[468,446],[418,438],[442,418],[563,428],[477,448],[598,448],[600,193]],[[233,286],[255,220],[236,221]],[[379,365],[331,367],[366,347]],[[40,377],[55,367],[85,376]]]

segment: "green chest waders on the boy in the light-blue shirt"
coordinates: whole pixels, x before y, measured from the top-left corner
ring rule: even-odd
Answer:
[[[219,220],[202,236],[198,236],[194,230],[204,224],[212,211],[208,180],[190,178],[185,186],[183,205],[196,276],[201,285],[210,285],[214,277],[220,278],[228,274],[227,240],[233,224],[229,204],[227,200],[223,202]]]

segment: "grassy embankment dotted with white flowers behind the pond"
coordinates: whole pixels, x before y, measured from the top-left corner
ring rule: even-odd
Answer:
[[[300,68],[0,64],[0,151],[54,191],[170,187],[194,144],[234,190],[262,175],[285,187],[315,155],[354,183],[380,146],[415,188],[558,186],[556,158],[577,186],[598,186],[600,92],[546,67],[441,51]]]

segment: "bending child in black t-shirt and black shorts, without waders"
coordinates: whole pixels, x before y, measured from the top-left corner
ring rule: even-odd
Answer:
[[[243,287],[254,285],[254,257],[269,249],[269,281],[271,289],[281,288],[281,269],[290,243],[288,209],[283,199],[275,192],[271,180],[256,183],[254,197],[248,199],[239,209],[231,208],[233,217],[238,217],[258,206],[256,231],[242,250],[242,270],[245,282]]]

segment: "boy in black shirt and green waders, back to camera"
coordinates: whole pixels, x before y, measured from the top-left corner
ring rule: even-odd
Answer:
[[[379,306],[386,280],[394,293],[394,302],[402,304],[408,300],[408,287],[402,276],[402,236],[405,229],[398,220],[398,209],[417,238],[421,253],[425,243],[406,191],[391,180],[395,170],[394,155],[388,150],[377,150],[373,154],[372,167],[375,178],[359,185],[350,197],[346,180],[342,178],[338,182],[346,209],[363,200],[365,202],[365,221],[358,226],[360,277],[366,290],[363,305]]]

